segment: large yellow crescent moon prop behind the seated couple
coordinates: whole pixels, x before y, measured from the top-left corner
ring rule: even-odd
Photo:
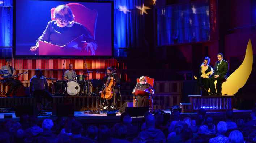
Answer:
[[[246,84],[247,79],[249,78],[252,72],[252,62],[253,62],[253,52],[252,52],[252,43],[249,39],[246,54],[244,57],[243,63],[235,70],[228,78],[226,82],[222,84],[222,94],[223,95],[234,95],[238,89],[242,88]],[[197,77],[194,76],[195,79]],[[214,82],[216,86],[217,81]],[[210,89],[208,90],[210,92]]]

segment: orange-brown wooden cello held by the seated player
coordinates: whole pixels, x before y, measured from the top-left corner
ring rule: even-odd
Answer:
[[[113,74],[111,74],[111,75],[113,75]],[[114,81],[114,77],[113,77],[113,79],[111,79],[111,76],[108,75],[107,81],[104,84],[104,88],[101,91],[101,98],[110,100],[114,95],[115,84],[116,84],[116,82]]]

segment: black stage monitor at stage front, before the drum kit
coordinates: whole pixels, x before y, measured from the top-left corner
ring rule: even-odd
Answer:
[[[74,105],[73,104],[59,104],[56,106],[57,117],[73,117]]]

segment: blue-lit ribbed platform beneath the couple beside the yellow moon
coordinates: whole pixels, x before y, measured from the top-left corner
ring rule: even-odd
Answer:
[[[200,108],[206,109],[207,112],[225,112],[233,109],[233,95],[222,96],[201,96],[189,95],[192,112],[197,112]]]

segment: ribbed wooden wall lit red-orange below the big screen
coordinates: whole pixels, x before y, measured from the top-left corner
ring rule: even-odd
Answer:
[[[118,66],[117,60],[113,58],[108,59],[14,59],[12,65],[16,72],[14,74],[23,73],[28,71],[28,74],[24,74],[18,78],[20,81],[30,80],[35,75],[34,69],[42,69],[43,75],[48,78],[57,78],[62,80],[63,75],[63,63],[65,61],[65,70],[69,68],[69,64],[73,64],[74,70],[77,74],[82,74],[86,71],[85,63],[90,73],[88,80],[90,79],[102,79],[104,74],[96,73],[105,72],[107,67]],[[5,59],[0,59],[0,65],[5,65]]]

